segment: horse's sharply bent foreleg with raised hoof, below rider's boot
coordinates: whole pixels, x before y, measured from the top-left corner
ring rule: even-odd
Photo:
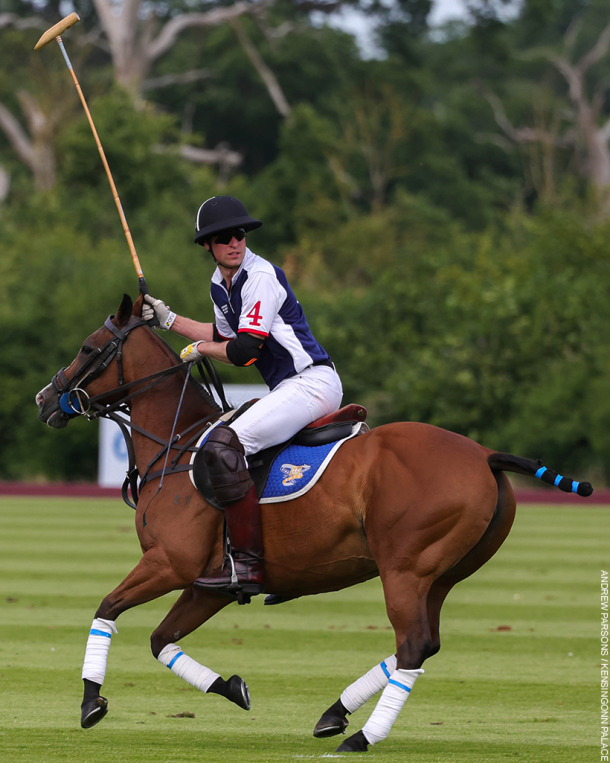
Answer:
[[[250,693],[243,678],[233,675],[226,681],[205,665],[185,654],[174,643],[199,628],[232,599],[210,594],[191,586],[182,592],[174,606],[150,638],[153,656],[172,673],[204,693],[219,694],[244,710],[250,709]]]

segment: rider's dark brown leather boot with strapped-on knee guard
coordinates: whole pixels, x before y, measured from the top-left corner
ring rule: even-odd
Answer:
[[[230,427],[213,429],[203,448],[210,482],[224,508],[231,555],[222,570],[197,578],[195,585],[236,595],[245,603],[263,592],[263,528],[256,488],[243,446]]]

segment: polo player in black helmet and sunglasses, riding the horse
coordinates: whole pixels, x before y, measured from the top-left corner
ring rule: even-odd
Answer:
[[[180,353],[182,360],[254,364],[270,390],[230,427],[214,427],[203,444],[214,497],[225,512],[232,559],[197,585],[220,592],[235,589],[233,565],[242,591],[263,590],[260,506],[246,458],[338,410],[343,394],[286,275],[246,244],[246,234],[261,225],[231,196],[213,196],[197,212],[195,243],[216,263],[210,291],[214,323],[177,315],[151,295],[142,310],[145,320],[191,340]]]

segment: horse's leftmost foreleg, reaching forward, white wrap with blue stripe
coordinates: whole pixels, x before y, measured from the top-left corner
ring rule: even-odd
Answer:
[[[115,621],[118,616],[138,604],[184,588],[197,577],[199,569],[189,571],[185,565],[178,572],[161,549],[152,548],[146,551],[125,580],[103,599],[91,624],[83,661],[82,728],[95,726],[108,712],[108,700],[100,696],[100,690],[106,676],[112,634],[117,633]]]

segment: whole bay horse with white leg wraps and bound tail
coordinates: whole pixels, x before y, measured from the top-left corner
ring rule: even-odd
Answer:
[[[57,429],[79,413],[130,414],[126,439],[135,464],[132,488],[139,477],[134,507],[143,555],[95,613],[83,665],[84,728],[107,713],[100,689],[116,619],[175,590],[182,593],[152,633],[153,655],[191,685],[250,709],[240,676],[225,680],[176,644],[232,601],[196,584],[223,563],[223,514],[188,475],[195,435],[222,411],[190,366],[145,324],[141,308],[141,296],[134,304],[125,295],[116,315],[85,339],[72,363],[36,396],[39,419]],[[440,649],[447,594],[485,564],[510,531],[516,504],[505,471],[578,495],[592,493],[589,483],[573,482],[539,461],[403,422],[346,441],[289,510],[285,502],[263,505],[266,591],[296,598],[376,576],[383,584],[396,652],[322,714],[315,736],[343,733],[347,716],[381,692],[363,728],[337,751],[365,751],[390,733],[422,665]]]

